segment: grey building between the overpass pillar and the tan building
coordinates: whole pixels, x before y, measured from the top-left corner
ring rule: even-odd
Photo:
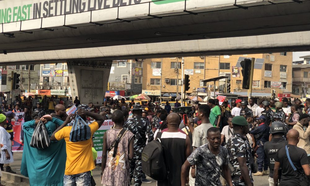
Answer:
[[[125,95],[141,94],[142,60],[117,60],[112,62],[107,91],[125,91]]]

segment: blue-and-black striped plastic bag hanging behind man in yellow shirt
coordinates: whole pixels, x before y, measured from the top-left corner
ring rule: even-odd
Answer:
[[[78,114],[76,114],[72,129],[70,131],[69,141],[78,142],[85,141],[87,139],[91,139],[91,127],[89,127],[87,123]]]

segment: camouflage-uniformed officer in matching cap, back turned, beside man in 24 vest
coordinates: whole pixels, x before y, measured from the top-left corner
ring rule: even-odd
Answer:
[[[130,178],[134,177],[135,186],[141,186],[142,184],[141,153],[145,147],[146,134],[148,135],[148,142],[154,138],[151,126],[141,117],[142,110],[143,108],[140,104],[133,105],[131,111],[134,117],[131,120],[127,120],[124,124],[124,128],[135,135],[134,157],[130,161]]]

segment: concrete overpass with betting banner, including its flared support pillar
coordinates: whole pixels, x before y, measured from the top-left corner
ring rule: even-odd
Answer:
[[[111,60],[310,50],[309,0],[2,0],[0,8],[0,64],[66,60],[72,95],[84,102],[102,101]]]

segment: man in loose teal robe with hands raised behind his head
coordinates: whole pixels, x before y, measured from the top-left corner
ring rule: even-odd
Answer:
[[[57,118],[47,118],[45,126],[49,136],[56,130],[56,124],[60,126],[63,121]],[[25,122],[24,128],[24,151],[20,172],[29,177],[31,186],[63,186],[64,170],[66,166],[66,142],[64,139],[51,142],[46,149],[30,147],[33,131],[40,120]],[[43,119],[45,122],[46,120]]]

